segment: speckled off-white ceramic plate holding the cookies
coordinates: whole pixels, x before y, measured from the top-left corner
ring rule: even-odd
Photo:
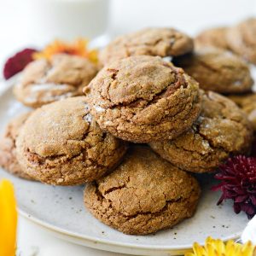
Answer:
[[[0,95],[0,131],[13,116],[25,112],[12,95],[11,86]],[[0,178],[9,178],[16,189],[20,214],[52,230],[56,235],[88,247],[139,255],[177,255],[194,241],[203,243],[207,236],[224,240],[237,238],[247,224],[247,217],[236,215],[232,203],[217,207],[219,194],[210,191],[211,176],[201,177],[202,197],[193,218],[170,230],[150,236],[127,236],[100,223],[84,208],[83,186],[54,187],[29,182],[0,169]]]

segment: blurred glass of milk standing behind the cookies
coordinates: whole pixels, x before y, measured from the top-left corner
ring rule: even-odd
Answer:
[[[108,30],[109,0],[26,0],[27,32],[32,44],[58,38],[99,41]]]

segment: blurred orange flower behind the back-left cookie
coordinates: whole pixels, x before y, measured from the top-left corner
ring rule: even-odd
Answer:
[[[60,40],[55,40],[52,44],[48,44],[42,51],[39,51],[33,55],[35,60],[38,59],[47,59],[49,60],[52,55],[58,53],[66,53],[68,55],[79,55],[81,57],[87,58],[92,62],[97,62],[97,50],[96,49],[87,49],[88,40],[78,39],[69,44],[62,42]]]

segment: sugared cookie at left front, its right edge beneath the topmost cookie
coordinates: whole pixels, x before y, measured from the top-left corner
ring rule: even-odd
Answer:
[[[43,183],[74,185],[111,170],[126,145],[103,132],[89,113],[84,96],[38,108],[16,141],[20,166]]]

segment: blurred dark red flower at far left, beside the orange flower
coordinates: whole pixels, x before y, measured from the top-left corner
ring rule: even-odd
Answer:
[[[29,62],[33,61],[32,54],[36,51],[36,49],[26,48],[10,57],[3,67],[4,79],[9,79],[16,73],[22,71]]]

